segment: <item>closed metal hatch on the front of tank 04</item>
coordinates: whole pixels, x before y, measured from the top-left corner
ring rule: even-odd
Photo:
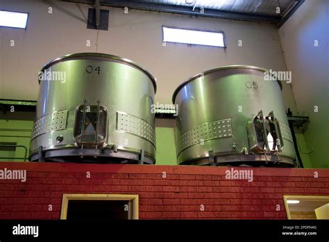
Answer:
[[[74,120],[74,140],[81,145],[97,146],[103,145],[107,134],[108,111],[105,106],[87,105],[87,100],[83,105],[78,106]],[[81,154],[82,155],[82,154]]]

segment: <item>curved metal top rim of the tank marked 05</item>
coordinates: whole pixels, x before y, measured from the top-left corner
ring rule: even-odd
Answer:
[[[194,76],[189,77],[189,79],[187,79],[186,81],[183,81],[183,83],[181,83],[178,88],[176,88],[176,90],[174,91],[174,94],[172,96],[172,102],[173,104],[175,103],[175,99],[176,99],[176,95],[179,92],[179,90],[181,88],[183,88],[183,86],[185,86],[187,83],[189,83],[190,81],[193,81],[194,79],[197,79],[198,77],[211,73],[211,72],[217,72],[219,70],[229,70],[229,69],[249,69],[249,70],[259,70],[261,72],[269,72],[269,70],[266,70],[262,67],[256,67],[256,66],[252,66],[252,65],[226,65],[226,66],[222,66],[222,67],[217,67],[214,69],[210,69],[210,70],[206,70],[205,72],[201,72],[199,74],[196,74]],[[280,89],[282,90],[282,83],[280,83],[280,81],[277,81]]]

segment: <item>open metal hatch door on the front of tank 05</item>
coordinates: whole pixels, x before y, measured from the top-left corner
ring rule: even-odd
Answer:
[[[264,117],[262,111],[247,123],[248,142],[255,153],[282,152],[283,140],[278,120],[273,111]]]

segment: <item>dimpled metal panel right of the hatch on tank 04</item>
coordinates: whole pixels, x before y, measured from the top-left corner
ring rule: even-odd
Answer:
[[[140,136],[155,145],[155,128],[134,115],[117,112],[117,131]]]

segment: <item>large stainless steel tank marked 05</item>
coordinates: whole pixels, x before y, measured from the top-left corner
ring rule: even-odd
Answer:
[[[179,164],[294,166],[282,86],[265,81],[264,72],[252,66],[219,67],[175,90]]]

